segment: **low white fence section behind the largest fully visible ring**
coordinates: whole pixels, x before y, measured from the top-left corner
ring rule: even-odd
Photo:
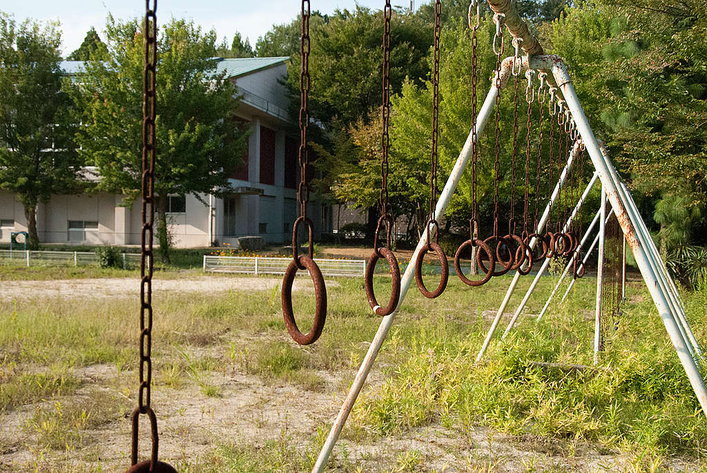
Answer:
[[[285,274],[292,258],[204,255],[204,271],[244,274]],[[363,276],[364,259],[317,259],[324,276]],[[306,270],[300,269],[300,273]]]

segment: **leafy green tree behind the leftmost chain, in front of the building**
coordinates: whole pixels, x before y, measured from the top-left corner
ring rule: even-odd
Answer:
[[[109,17],[106,33],[110,59],[88,62],[76,85],[66,86],[81,108],[81,157],[98,165],[100,189],[121,192],[130,202],[141,184],[142,25]],[[173,19],[160,28],[158,45],[155,193],[160,250],[168,260],[167,197],[226,194],[246,133],[233,119],[234,86],[216,74],[210,59],[216,54],[214,30],[202,33]]]

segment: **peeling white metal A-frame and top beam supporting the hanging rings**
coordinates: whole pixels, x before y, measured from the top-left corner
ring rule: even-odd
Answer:
[[[588,119],[584,114],[583,108],[572,86],[572,81],[568,74],[566,65],[560,57],[544,54],[542,47],[539,45],[539,42],[537,42],[537,38],[530,34],[527,25],[525,25],[525,23],[518,16],[518,13],[510,6],[510,0],[487,1],[493,11],[496,11],[497,13],[504,13],[506,15],[506,27],[510,31],[511,35],[513,35],[513,37],[520,37],[523,40],[522,48],[527,55],[520,58],[520,69],[534,69],[536,71],[547,72],[548,82],[552,86],[556,86],[559,89],[559,93],[561,93],[566,103],[566,107],[569,110],[571,118],[576,124],[578,134],[581,137],[583,144],[586,146],[592,165],[595,168],[597,179],[601,182],[602,193],[605,193],[613,213],[617,216],[619,226],[621,227],[621,230],[626,238],[626,243],[628,243],[629,247],[631,247],[633,257],[636,259],[636,264],[638,265],[638,269],[641,271],[641,275],[643,276],[646,286],[648,286],[650,296],[653,298],[655,308],[658,310],[658,315],[660,315],[663,325],[665,325],[665,329],[670,337],[670,340],[672,341],[677,356],[679,357],[679,361],[685,370],[703,412],[707,413],[707,387],[705,386],[705,382],[700,371],[701,364],[703,363],[703,354],[694,337],[694,334],[690,329],[689,323],[686,320],[684,306],[682,304],[682,300],[680,300],[677,287],[675,286],[674,281],[670,278],[670,274],[667,272],[665,263],[662,262],[662,259],[660,258],[658,248],[655,247],[655,243],[653,243],[653,239],[650,237],[650,233],[648,233],[648,228],[645,227],[645,223],[643,222],[641,215],[638,213],[636,204],[633,202],[633,197],[631,197],[626,184],[621,181],[621,178],[614,169],[611,160],[605,153],[602,152],[602,148],[592,132],[592,128],[590,127]],[[460,152],[454,168],[450,173],[450,177],[448,178],[438,199],[434,212],[435,218],[441,218],[443,216],[444,211],[450,202],[450,197],[455,192],[460,178],[462,177],[464,170],[467,168],[469,159],[472,157],[472,150],[477,143],[477,137],[484,131],[486,122],[488,122],[489,117],[494,110],[496,95],[498,95],[501,92],[501,89],[506,86],[514,63],[515,60],[513,57],[504,59],[501,65],[501,70],[498,71],[496,76],[492,78],[489,93],[486,95],[486,99],[484,100],[484,104],[481,106],[481,110],[479,110],[476,133],[474,134],[472,131],[469,132],[469,136],[467,136],[467,140],[464,143],[462,151]],[[515,64],[516,66],[518,65],[517,63]],[[561,173],[559,182],[556,185],[555,192],[559,192],[559,187],[563,185],[568,170],[571,168],[576,146],[578,145],[575,143],[573,146],[573,151],[568,157],[568,162]],[[553,193],[553,199],[551,199],[551,202],[554,202],[554,194],[555,193]],[[549,214],[549,207],[550,204],[548,204],[545,214]],[[606,209],[606,206],[602,206],[602,208]],[[547,221],[547,216],[545,214],[542,220]],[[600,215],[600,218],[604,220],[606,216],[605,210],[602,211]],[[544,226],[544,222],[542,222],[542,225]],[[539,224],[539,227],[540,226],[541,225]],[[428,243],[427,238],[427,233],[423,232],[411,258],[412,260],[416,259],[417,255],[419,255],[423,248],[426,247]],[[534,245],[534,243],[531,242],[531,245]],[[498,320],[500,320],[501,315],[503,315],[503,310],[505,310],[506,305],[508,305],[510,295],[513,293],[518,279],[520,279],[520,274],[516,273],[510,287],[508,288],[508,291],[506,292],[506,297],[503,299],[501,308],[498,310],[498,314],[500,314],[496,317]],[[397,308],[393,311],[393,313],[382,318],[380,327],[378,327],[378,332],[376,332],[373,341],[371,341],[368,353],[366,353],[365,358],[363,358],[363,362],[358,369],[358,373],[356,373],[356,377],[351,384],[351,389],[349,390],[348,395],[346,395],[343,404],[341,404],[339,414],[337,414],[337,418],[334,420],[334,424],[332,425],[329,435],[322,446],[322,450],[317,457],[317,461],[315,462],[314,467],[312,467],[312,473],[320,473],[325,469],[327,460],[329,459],[334,445],[339,438],[339,434],[344,428],[346,419],[348,419],[351,409],[354,407],[354,403],[356,402],[363,385],[366,383],[368,373],[370,373],[371,368],[373,368],[375,358],[378,356],[378,352],[380,351],[383,341],[385,341],[385,338],[390,331],[390,327],[392,327],[392,324],[395,321],[397,310],[400,304],[402,304],[402,301],[404,300],[410,287],[411,281],[413,280],[414,265],[409,265],[402,276],[400,298]],[[495,330],[497,325],[498,321],[494,320],[492,330],[486,337],[487,339],[484,341],[484,347],[477,357],[477,360],[483,356],[483,352],[489,345],[491,337],[493,336],[493,330]]]

